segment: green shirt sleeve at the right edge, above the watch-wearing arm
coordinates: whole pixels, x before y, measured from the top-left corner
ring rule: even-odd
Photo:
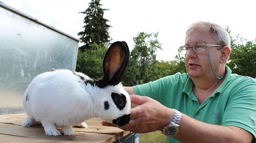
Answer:
[[[256,138],[256,80],[246,79],[231,92],[223,114],[223,126],[243,128]]]

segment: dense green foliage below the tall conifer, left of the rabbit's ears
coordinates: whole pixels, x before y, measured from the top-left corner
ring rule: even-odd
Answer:
[[[102,63],[107,48],[93,43],[90,45],[90,49],[85,49],[83,53],[78,51],[76,71],[82,72],[90,78],[100,78],[103,76]]]

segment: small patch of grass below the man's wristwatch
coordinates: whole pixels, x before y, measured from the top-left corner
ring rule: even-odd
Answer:
[[[140,143],[167,143],[166,136],[160,131],[139,134]]]

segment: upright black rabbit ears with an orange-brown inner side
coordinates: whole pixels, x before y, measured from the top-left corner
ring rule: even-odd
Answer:
[[[117,85],[121,82],[128,65],[130,51],[126,42],[117,41],[108,48],[104,61],[104,82],[106,85]]]

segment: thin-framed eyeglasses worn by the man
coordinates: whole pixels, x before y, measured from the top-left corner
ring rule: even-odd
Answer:
[[[207,46],[221,46],[221,45],[209,45],[209,44],[204,44],[204,43],[196,43],[196,44],[190,44],[190,45],[184,45],[181,46],[178,50],[179,50],[179,54],[181,55],[185,55],[187,53],[189,53],[189,48],[192,48],[193,52],[195,53],[201,53],[205,51],[205,47]],[[223,47],[223,46],[221,46]]]

